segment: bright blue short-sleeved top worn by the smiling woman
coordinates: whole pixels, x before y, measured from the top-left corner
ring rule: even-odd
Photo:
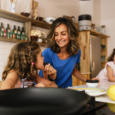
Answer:
[[[68,86],[72,86],[72,72],[76,64],[80,63],[80,55],[81,50],[79,50],[76,55],[70,56],[65,60],[61,60],[50,48],[46,48],[42,52],[44,62],[50,63],[57,71],[55,82],[58,87],[67,88]],[[42,71],[39,72],[39,75],[43,77]]]

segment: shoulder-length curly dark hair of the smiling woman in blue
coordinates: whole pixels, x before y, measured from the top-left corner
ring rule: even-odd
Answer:
[[[72,20],[64,18],[64,17],[59,17],[53,22],[51,29],[49,31],[49,34],[47,36],[47,39],[49,40],[48,47],[50,47],[55,53],[60,52],[60,48],[54,40],[54,37],[55,37],[54,31],[61,24],[66,25],[68,33],[69,33],[70,42],[66,50],[70,55],[74,55],[79,50],[78,30],[76,29],[75,24],[72,22]]]

